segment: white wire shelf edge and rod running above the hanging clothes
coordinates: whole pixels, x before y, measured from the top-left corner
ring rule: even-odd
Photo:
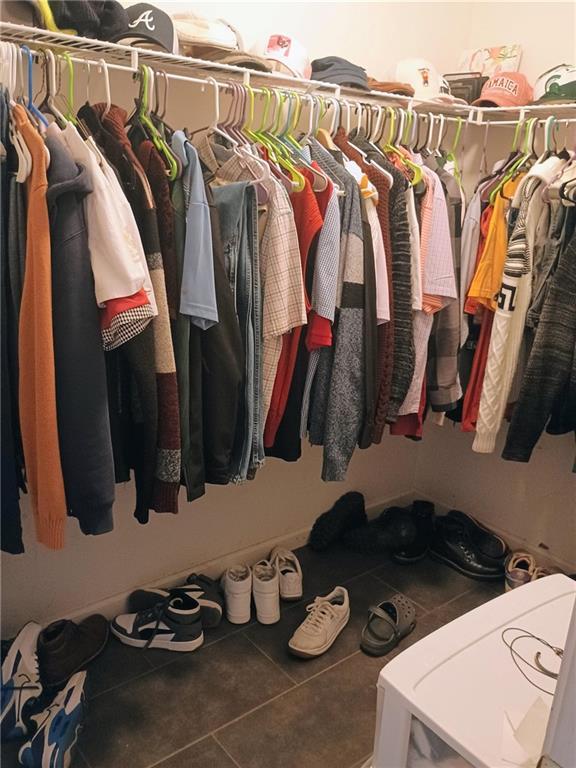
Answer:
[[[527,116],[548,115],[557,116],[562,120],[562,115],[576,115],[576,102],[572,104],[535,104],[518,108],[507,107],[474,107],[472,105],[446,104],[437,101],[421,101],[398,94],[383,93],[380,91],[359,91],[353,88],[343,88],[333,83],[319,80],[301,80],[284,75],[280,72],[256,72],[243,67],[230,64],[222,64],[215,61],[206,61],[187,56],[178,56],[171,53],[146,48],[136,48],[120,43],[109,43],[92,38],[77,37],[64,33],[50,32],[36,27],[28,27],[22,24],[0,22],[0,39],[17,44],[26,44],[29,47],[47,46],[56,49],[74,51],[72,57],[75,63],[86,63],[88,66],[99,66],[99,62],[91,59],[91,56],[105,59],[110,69],[119,71],[136,72],[140,64],[148,64],[152,68],[164,70],[166,75],[174,80],[183,82],[205,83],[206,77],[201,80],[191,77],[191,71],[209,76],[220,74],[229,77],[230,80],[240,79],[244,85],[252,85],[255,81],[261,86],[277,87],[304,93],[315,93],[328,99],[336,99],[339,102],[368,103],[375,105],[399,106],[419,114],[432,113],[443,115],[448,122],[464,120],[474,125],[516,125],[518,120],[524,120]],[[210,82],[210,81],[208,81]],[[230,82],[217,82],[218,87],[228,89]],[[252,86],[254,87],[254,86]],[[256,92],[260,89],[254,88]],[[512,118],[515,119],[508,119]]]

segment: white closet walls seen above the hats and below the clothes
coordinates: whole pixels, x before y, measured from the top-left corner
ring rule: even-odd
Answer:
[[[180,11],[192,5],[158,4]],[[196,3],[193,8],[227,18],[241,29],[248,46],[260,35],[285,32],[297,36],[311,58],[340,54],[377,77],[385,77],[406,56],[429,58],[441,71],[450,71],[461,49],[504,42],[525,46],[523,68],[532,79],[554,64],[576,60],[572,3],[269,2]],[[78,88],[77,98],[84,99],[81,78]],[[129,106],[135,88],[129,78],[114,78],[112,97]],[[103,96],[94,74],[90,93],[94,100]],[[171,99],[177,105],[172,112],[177,124],[187,121],[192,101],[194,113],[199,112],[197,91],[182,98],[181,89],[171,89]],[[209,94],[203,99],[208,108]],[[194,118],[186,124],[195,127]],[[468,146],[473,135],[478,140],[478,132],[471,132]],[[469,161],[474,175],[477,156]],[[501,461],[498,453],[472,453],[470,438],[455,430],[428,427],[420,445],[388,438],[382,446],[357,452],[345,484],[322,483],[320,451],[307,449],[297,464],[270,460],[253,483],[210,487],[200,501],[182,502],[179,516],[154,516],[144,527],[132,517],[131,486],[119,486],[116,530],[88,538],[70,521],[67,547],[56,553],[33,542],[24,502],[27,552],[2,558],[3,632],[10,634],[29,618],[46,621],[138,584],[299,532],[351,488],[363,491],[374,505],[417,488],[533,547],[544,542],[574,567],[573,449],[570,438],[546,438],[529,465],[517,465]]]

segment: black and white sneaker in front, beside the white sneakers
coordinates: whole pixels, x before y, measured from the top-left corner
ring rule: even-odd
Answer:
[[[152,608],[116,616],[112,633],[135,648],[195,651],[204,642],[200,605],[185,592],[169,594]]]

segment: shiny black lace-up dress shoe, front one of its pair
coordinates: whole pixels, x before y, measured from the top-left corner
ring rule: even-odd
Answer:
[[[480,552],[466,525],[449,517],[437,517],[430,542],[430,556],[458,573],[479,581],[504,578],[504,565]]]

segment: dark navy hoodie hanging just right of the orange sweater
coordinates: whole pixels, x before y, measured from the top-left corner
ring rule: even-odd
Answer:
[[[83,197],[88,174],[76,165],[48,128],[48,192],[52,250],[52,325],[56,408],[68,513],[83,533],[111,531],[114,460],[94,277],[88,250]]]

